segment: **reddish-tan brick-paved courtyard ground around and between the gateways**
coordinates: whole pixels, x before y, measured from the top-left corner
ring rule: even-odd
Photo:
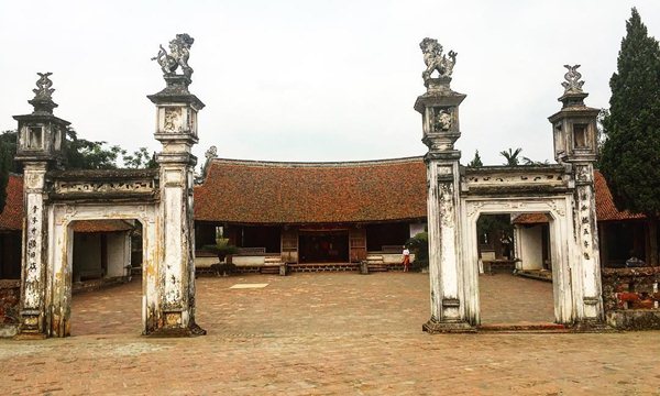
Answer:
[[[235,284],[267,284],[232,289]],[[482,276],[484,322],[551,321],[551,285]],[[199,278],[194,339],[140,332],[140,284],[74,296],[74,337],[0,340],[3,394],[660,395],[660,332],[428,336],[428,275]]]

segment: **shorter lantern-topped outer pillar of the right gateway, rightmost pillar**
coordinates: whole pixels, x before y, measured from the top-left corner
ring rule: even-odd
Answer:
[[[565,66],[564,94],[559,98],[562,109],[548,119],[553,128],[554,160],[564,164],[574,183],[573,229],[574,249],[571,255],[573,272],[573,304],[578,324],[591,326],[603,321],[598,230],[594,194],[594,163],[598,155],[596,118],[600,110],[586,107],[582,90],[584,81],[580,65]]]

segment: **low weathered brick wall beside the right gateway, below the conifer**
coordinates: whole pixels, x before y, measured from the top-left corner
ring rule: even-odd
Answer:
[[[660,329],[660,267],[603,268],[607,323],[622,330]]]

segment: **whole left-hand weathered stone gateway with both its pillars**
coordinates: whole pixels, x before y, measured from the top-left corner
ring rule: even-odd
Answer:
[[[155,139],[163,144],[153,170],[61,170],[66,127],[50,73],[40,74],[34,111],[15,116],[15,160],[24,168],[20,337],[70,333],[73,230],[76,220],[134,219],[143,228],[142,323],[144,334],[205,333],[195,323],[193,170],[197,112],[188,91],[193,38],[179,34],[158,63],[167,84],[148,96],[156,105]],[[176,74],[182,66],[183,75]]]

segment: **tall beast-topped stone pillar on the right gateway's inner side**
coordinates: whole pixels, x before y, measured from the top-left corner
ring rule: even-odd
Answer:
[[[427,92],[417,98],[415,110],[422,116],[422,142],[429,147],[425,162],[431,283],[431,318],[422,329],[429,333],[471,331],[459,244],[461,152],[453,146],[461,136],[459,105],[465,95],[450,88],[457,54],[442,54],[442,46],[432,38],[425,38],[420,47],[427,65],[422,74]],[[438,78],[431,77],[435,72]]]

